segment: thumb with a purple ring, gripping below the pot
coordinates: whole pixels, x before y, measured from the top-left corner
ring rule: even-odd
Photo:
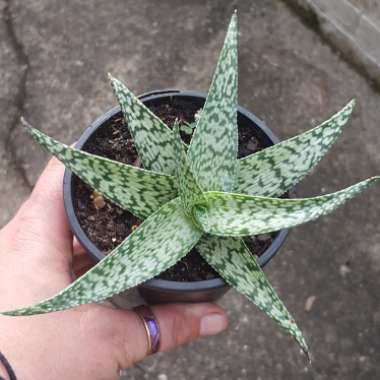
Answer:
[[[212,303],[157,305],[151,310],[160,329],[159,351],[168,351],[200,337],[219,334],[228,325],[224,310]],[[126,368],[146,357],[148,335],[135,311],[113,312],[114,327],[123,339],[118,344],[117,359],[120,368]]]

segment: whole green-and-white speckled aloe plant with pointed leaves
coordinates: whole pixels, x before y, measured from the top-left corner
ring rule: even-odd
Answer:
[[[166,120],[169,125],[146,105],[155,106],[158,112],[160,107],[172,103],[148,104],[149,100],[157,100],[155,94],[153,98],[143,98],[144,105],[120,81],[110,78],[125,119],[120,120],[119,110],[112,111],[86,132],[85,140],[92,132],[102,137],[119,120],[121,131],[112,133],[126,134],[124,150],[136,152],[125,161],[133,164],[71,148],[28,128],[38,143],[95,190],[92,200],[98,208],[111,202],[127,210],[130,231],[112,252],[57,295],[4,314],[49,313],[104,300],[160,275],[195,249],[226,283],[277,321],[308,353],[301,331],[264,276],[259,260],[248,249],[250,243],[244,239],[251,237],[252,243],[253,236],[326,215],[380,177],[315,198],[283,197],[289,195],[340,135],[354,101],[320,126],[270,146],[276,142],[271,132],[237,106],[236,39],[237,16],[233,15],[206,101],[202,101],[202,96],[190,94],[191,116],[186,119],[169,112],[171,120]],[[175,95],[169,92],[165,96],[173,100]],[[186,105],[181,104],[186,111]],[[202,110],[193,122],[199,108]],[[102,125],[108,127],[101,128]],[[241,155],[238,141],[244,142],[247,134],[251,139],[255,133],[266,149],[237,159]],[[128,146],[132,140],[133,149]],[[95,139],[92,145],[101,141]],[[81,144],[83,147],[86,142]],[[90,144],[88,150],[91,149]],[[115,158],[112,153],[108,157]],[[73,190],[72,182],[69,190]],[[215,286],[220,287],[220,283]],[[186,293],[188,289],[182,290]]]

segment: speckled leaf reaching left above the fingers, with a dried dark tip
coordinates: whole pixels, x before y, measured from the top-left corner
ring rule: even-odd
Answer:
[[[178,195],[175,177],[70,148],[30,126],[27,131],[84,182],[138,218],[147,218]]]

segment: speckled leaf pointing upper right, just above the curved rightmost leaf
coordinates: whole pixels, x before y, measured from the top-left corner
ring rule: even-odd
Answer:
[[[235,191],[279,197],[318,164],[342,132],[355,101],[320,126],[238,161]]]

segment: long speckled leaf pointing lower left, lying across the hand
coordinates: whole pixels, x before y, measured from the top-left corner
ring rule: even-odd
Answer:
[[[176,198],[152,214],[69,287],[37,305],[2,314],[43,314],[104,300],[174,265],[194,247],[201,235],[184,215]]]

